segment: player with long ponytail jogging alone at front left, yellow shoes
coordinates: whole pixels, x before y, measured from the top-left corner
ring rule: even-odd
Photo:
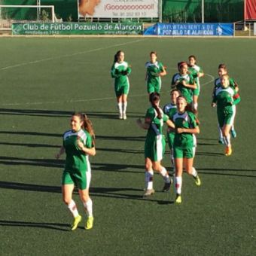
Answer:
[[[93,227],[93,202],[89,196],[91,169],[89,156],[96,154],[94,132],[90,120],[85,114],[75,113],[70,120],[71,130],[63,135],[63,145],[56,154],[56,159],[66,151],[65,169],[62,175],[62,198],[74,217],[71,230],[75,230],[81,222],[72,193],[78,187],[78,193],[87,212],[85,229]]]

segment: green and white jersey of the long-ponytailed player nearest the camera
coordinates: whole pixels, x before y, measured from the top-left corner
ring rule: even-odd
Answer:
[[[93,148],[93,139],[86,130],[67,131],[63,135],[63,147],[66,150],[65,170],[69,172],[90,171],[89,156],[78,148],[78,139],[87,148]]]

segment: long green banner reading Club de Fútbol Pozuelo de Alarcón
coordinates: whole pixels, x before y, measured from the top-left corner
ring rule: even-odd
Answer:
[[[13,35],[140,35],[142,23],[13,23]]]

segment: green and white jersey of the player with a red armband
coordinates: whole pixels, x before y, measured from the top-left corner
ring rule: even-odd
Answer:
[[[212,102],[217,104],[217,111],[232,111],[232,106],[240,102],[240,96],[233,87],[220,86],[215,89]]]

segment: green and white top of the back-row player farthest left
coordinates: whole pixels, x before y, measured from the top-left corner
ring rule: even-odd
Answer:
[[[111,67],[111,77],[114,79],[115,86],[125,86],[129,84],[129,79],[127,75],[130,75],[132,69],[130,68],[128,62],[114,62]]]

